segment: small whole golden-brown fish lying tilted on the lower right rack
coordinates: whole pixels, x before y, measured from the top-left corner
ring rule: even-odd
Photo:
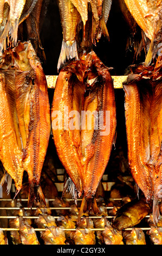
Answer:
[[[145,198],[134,199],[116,211],[112,227],[118,230],[133,227],[140,223],[150,211],[150,206],[146,203]]]

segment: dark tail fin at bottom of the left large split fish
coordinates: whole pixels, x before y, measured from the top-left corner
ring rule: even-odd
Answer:
[[[42,192],[42,188],[40,185],[36,185],[33,182],[29,184],[29,196],[28,196],[28,207],[32,208],[34,201],[43,202],[44,206],[46,206],[46,200],[44,198],[44,194]]]

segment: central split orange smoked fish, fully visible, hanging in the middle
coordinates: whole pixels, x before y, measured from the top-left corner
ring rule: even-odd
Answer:
[[[112,150],[116,108],[111,75],[93,51],[60,71],[51,121],[57,154],[69,175],[64,191],[72,192],[75,203],[83,194],[79,218],[87,209],[98,212],[95,193]]]

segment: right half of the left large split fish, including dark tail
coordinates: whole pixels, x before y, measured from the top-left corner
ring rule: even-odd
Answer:
[[[29,115],[28,111],[30,111],[28,127],[30,132],[23,155],[23,167],[28,172],[30,187],[29,204],[32,205],[33,200],[39,196],[44,202],[44,196],[40,187],[40,176],[50,136],[50,107],[46,76],[44,75],[40,60],[37,58],[30,43],[28,45],[28,59],[31,68],[34,70],[34,84],[28,101],[30,109],[27,109],[27,113],[24,113],[24,115]]]

